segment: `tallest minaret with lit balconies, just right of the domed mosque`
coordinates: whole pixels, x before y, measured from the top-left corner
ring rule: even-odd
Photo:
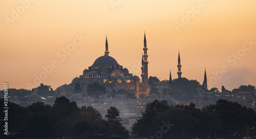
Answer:
[[[142,55],[142,67],[141,67],[141,79],[144,82],[145,88],[148,87],[148,73],[147,73],[147,48],[146,48],[146,34],[144,32],[144,47],[143,47],[144,55]]]

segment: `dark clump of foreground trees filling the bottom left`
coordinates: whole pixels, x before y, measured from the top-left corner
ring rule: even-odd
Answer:
[[[4,104],[4,100],[0,99]],[[92,106],[79,108],[76,102],[66,97],[58,97],[53,106],[35,102],[27,107],[8,103],[8,133],[4,134],[4,108],[1,107],[2,119],[0,138],[109,138],[118,134],[129,136],[120,123],[119,110],[110,107],[104,120]]]

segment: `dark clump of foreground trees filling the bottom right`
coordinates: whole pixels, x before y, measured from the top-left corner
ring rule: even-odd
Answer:
[[[237,102],[218,100],[198,109],[195,104],[168,106],[155,100],[145,106],[132,135],[149,138],[256,138],[256,113]]]

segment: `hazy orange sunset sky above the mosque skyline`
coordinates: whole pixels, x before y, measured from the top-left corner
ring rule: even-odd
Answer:
[[[180,50],[182,77],[202,84],[206,67],[209,89],[256,86],[255,7],[253,0],[1,0],[0,89],[6,81],[32,89],[37,77],[53,89],[70,84],[104,54],[105,35],[110,56],[141,77],[144,31],[150,76],[168,79],[172,69],[177,78]]]

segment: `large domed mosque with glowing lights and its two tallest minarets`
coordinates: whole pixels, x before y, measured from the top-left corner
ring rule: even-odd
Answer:
[[[108,39],[106,38],[104,55],[97,58],[88,69],[84,69],[82,75],[75,77],[71,84],[58,87],[56,92],[59,93],[59,96],[78,98],[78,94],[75,93],[75,88],[77,87],[81,89],[80,94],[83,97],[90,97],[87,87],[88,85],[97,83],[103,85],[106,88],[106,94],[112,94],[112,97],[122,96],[126,98],[127,94],[134,93],[137,98],[145,99],[150,93],[150,88],[148,87],[148,55],[145,33],[143,51],[140,80],[138,76],[129,73],[128,69],[123,68],[123,66],[119,65],[109,55]]]

